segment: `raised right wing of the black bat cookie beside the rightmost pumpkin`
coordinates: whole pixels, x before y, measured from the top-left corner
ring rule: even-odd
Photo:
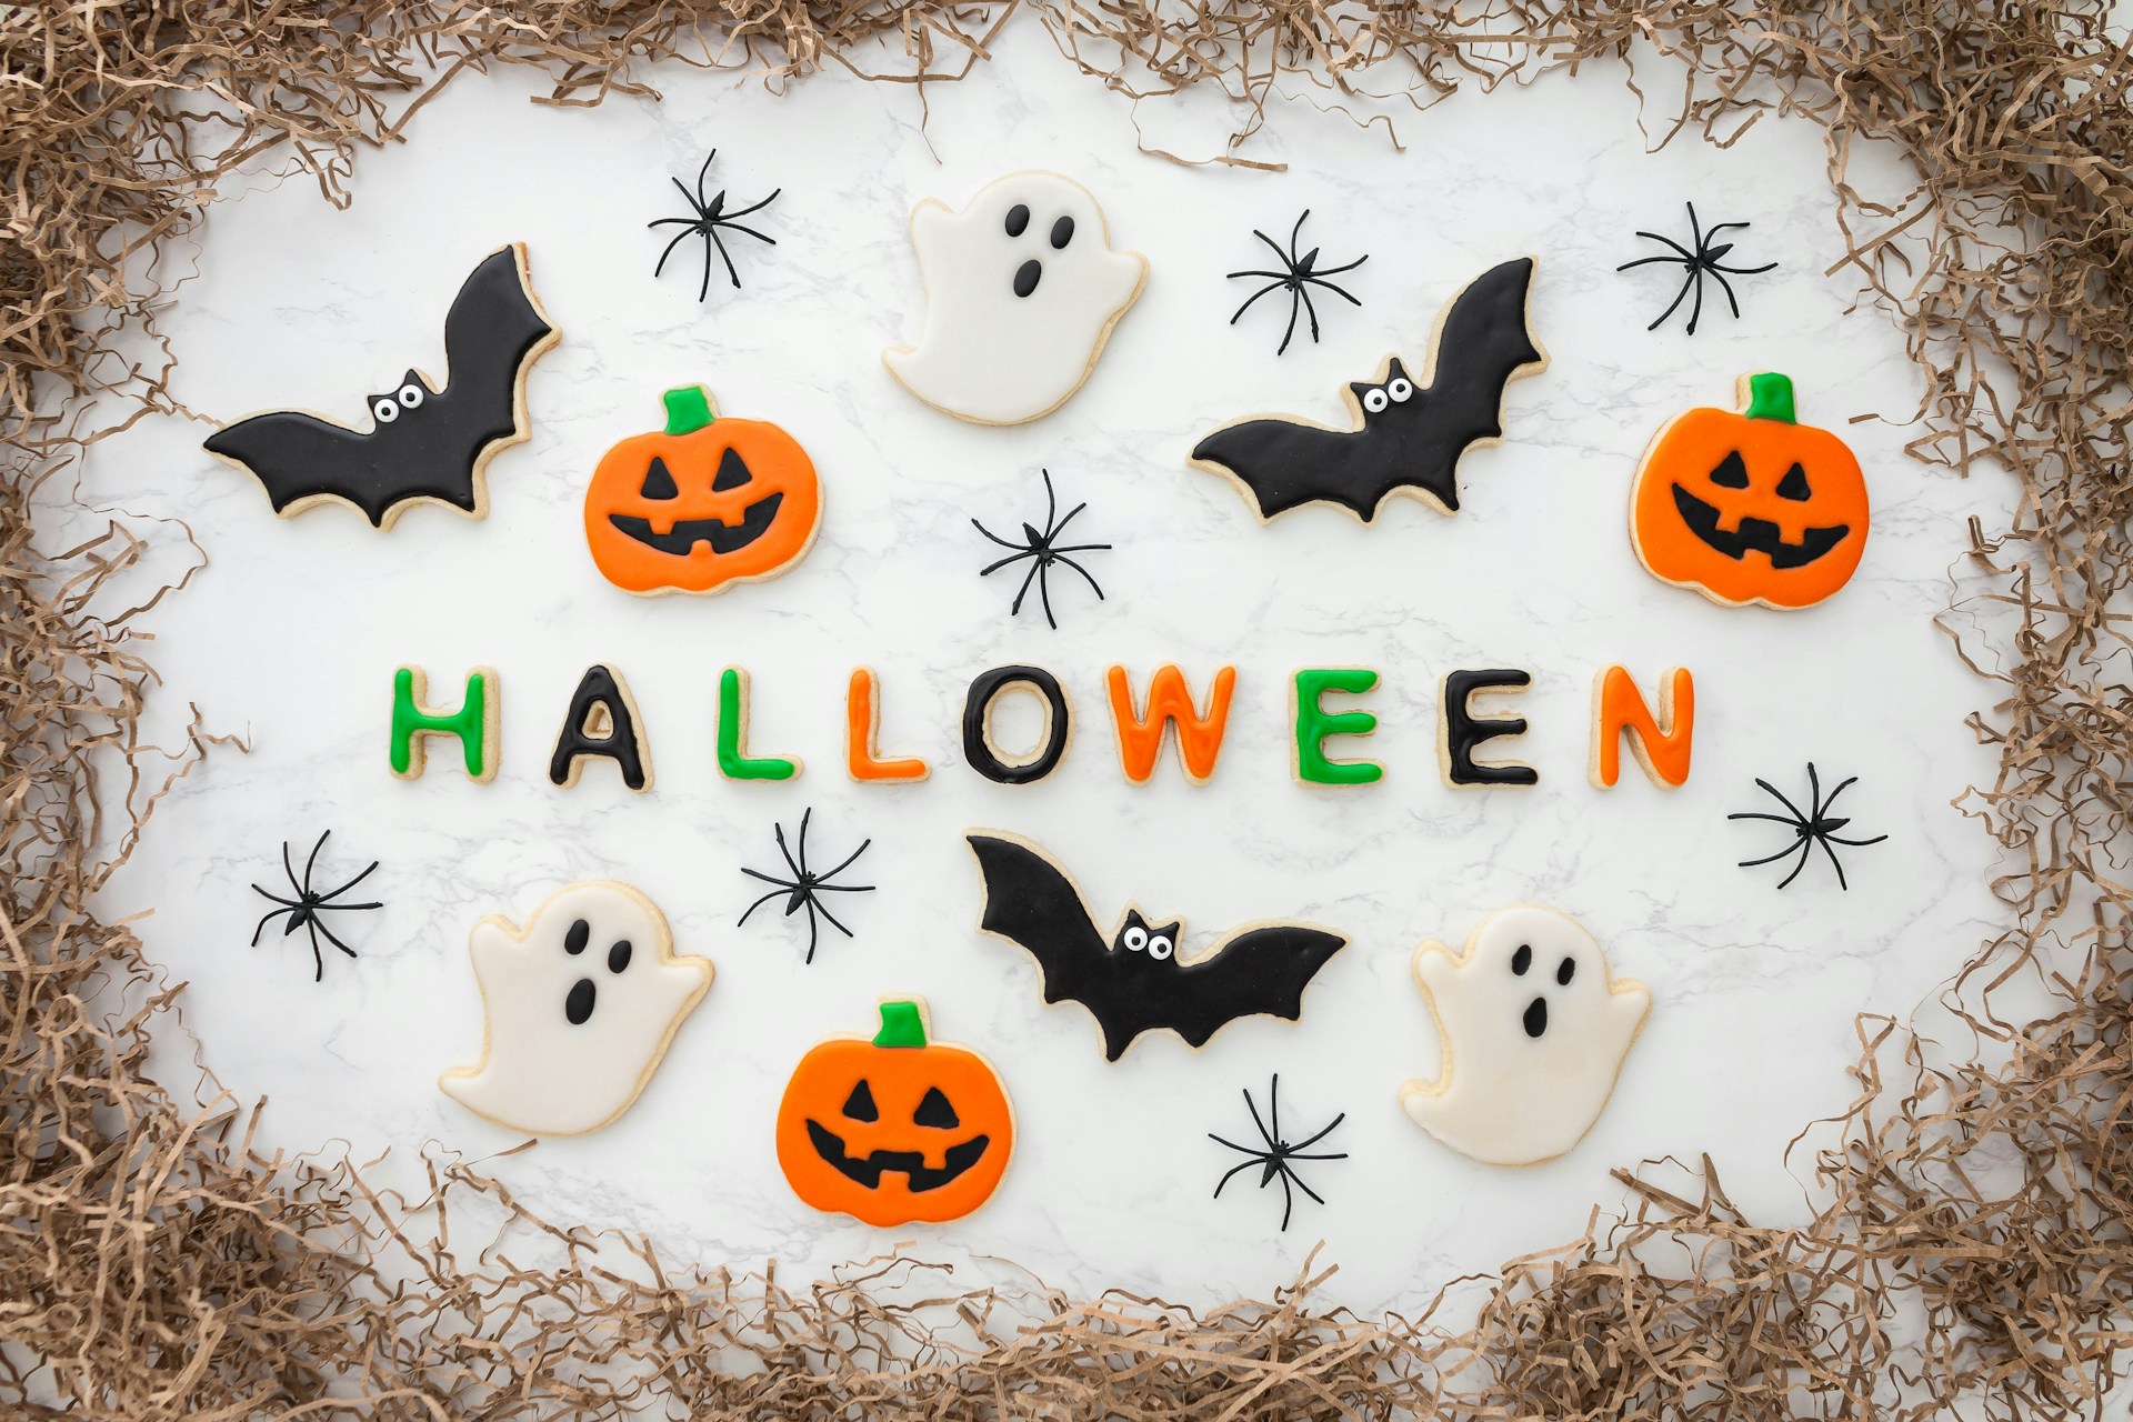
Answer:
[[[1401,441],[1399,473],[1378,495],[1423,488],[1446,512],[1459,510],[1459,456],[1476,441],[1504,437],[1504,386],[1549,365],[1525,326],[1534,258],[1491,266],[1453,296],[1429,343],[1427,384],[1416,392],[1416,422]]]

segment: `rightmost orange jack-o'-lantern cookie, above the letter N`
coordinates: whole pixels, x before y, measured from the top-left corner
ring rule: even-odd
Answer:
[[[1715,603],[1811,608],[1858,571],[1866,475],[1800,424],[1792,382],[1743,375],[1741,409],[1700,405],[1657,433],[1630,488],[1630,544],[1662,582]]]

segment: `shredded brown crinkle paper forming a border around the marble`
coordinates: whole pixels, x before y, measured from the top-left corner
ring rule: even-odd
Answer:
[[[2107,1416],[2133,1343],[2133,55],[2101,0],[1024,6],[1126,98],[1224,92],[1239,124],[1218,162],[1252,162],[1276,94],[1384,124],[1369,102],[1423,109],[1587,60],[1632,64],[1653,143],[1730,143],[1766,113],[1826,130],[1830,271],[1901,324],[1928,384],[1911,452],[2014,480],[2020,503],[2007,527],[1971,527],[1941,618],[1994,689],[1971,725],[1999,774],[1958,804],[2005,851],[2005,925],[1947,944],[1930,1034],[1860,1017],[1856,1106],[1768,1166],[1809,1183],[1807,1224],[1747,1219],[1709,1162],[1647,1162],[1585,1237],[1455,1281],[1414,1320],[1314,1303],[1316,1264],[1212,1311],[971,1288],[911,1258],[787,1288],[535,1219],[465,1162],[420,1162],[420,1190],[386,1192],[371,1166],[267,1153],[226,1098],[201,1111],[149,1081],[181,989],[92,895],[213,744],[198,727],[173,750],[141,738],[156,678],[137,623],[183,578],[130,588],[181,533],[109,520],[62,548],[30,512],[81,456],[85,403],[175,409],[166,367],[113,352],[132,333],[173,358],[162,258],[215,179],[282,164],[346,203],[363,149],[488,64],[542,68],[559,104],[651,92],[657,60],[770,83],[840,64],[924,94],[985,62],[1015,9],[0,9],[0,1413]],[[1860,139],[1909,162],[1901,203],[1847,181]],[[98,849],[107,814],[115,853]]]

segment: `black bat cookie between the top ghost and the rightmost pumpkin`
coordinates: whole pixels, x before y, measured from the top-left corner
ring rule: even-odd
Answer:
[[[1237,420],[1192,448],[1192,467],[1229,475],[1261,520],[1303,503],[1337,503],[1363,522],[1393,495],[1459,512],[1459,456],[1504,437],[1504,386],[1546,369],[1525,326],[1534,258],[1491,266],[1453,296],[1429,341],[1425,384],[1386,356],[1346,392],[1354,429],[1288,416]]]

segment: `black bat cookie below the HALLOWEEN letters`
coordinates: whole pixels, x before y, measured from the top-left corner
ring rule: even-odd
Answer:
[[[1169,1028],[1201,1047],[1237,1017],[1295,1021],[1303,987],[1348,944],[1308,923],[1261,923],[1231,934],[1194,962],[1177,959],[1184,923],[1150,923],[1137,908],[1109,938],[1096,927],[1066,870],[1035,844],[1000,834],[966,836],[985,876],[985,917],[1028,949],[1045,1002],[1079,1002],[1103,1028],[1103,1055],[1118,1062],[1141,1032]]]

